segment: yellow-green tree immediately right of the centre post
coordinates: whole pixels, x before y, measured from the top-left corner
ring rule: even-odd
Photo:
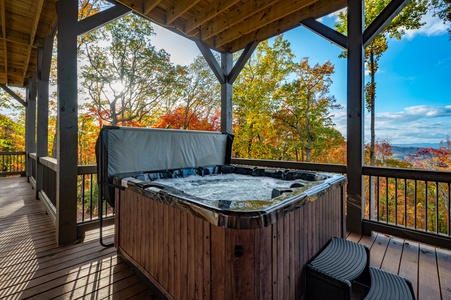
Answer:
[[[237,157],[278,158],[281,143],[273,111],[292,73],[290,43],[279,35],[260,42],[233,87],[234,150]]]

